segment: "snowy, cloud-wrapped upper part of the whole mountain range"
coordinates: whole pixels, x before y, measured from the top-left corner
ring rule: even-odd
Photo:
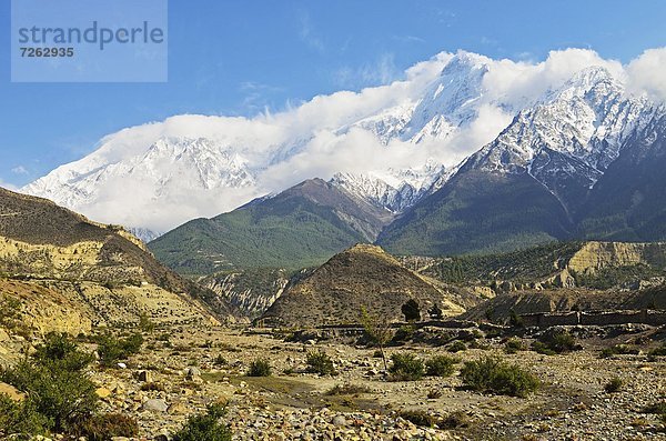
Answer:
[[[649,113],[607,62],[586,60],[440,54],[403,80],[275,114],[179,116],[124,129],[23,191],[147,239],[315,177],[393,214],[471,167],[527,170],[569,200],[597,182]]]

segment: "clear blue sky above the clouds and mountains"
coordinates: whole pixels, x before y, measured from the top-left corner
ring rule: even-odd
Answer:
[[[167,83],[11,83],[0,6],[0,182],[21,186],[104,134],[179,113],[252,116],[400,78],[440,51],[627,62],[666,46],[666,2],[170,0]]]

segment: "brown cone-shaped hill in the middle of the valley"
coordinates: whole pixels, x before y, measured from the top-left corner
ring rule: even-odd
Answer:
[[[405,269],[381,248],[357,244],[287,289],[260,323],[287,327],[357,323],[362,308],[401,321],[404,320],[401,307],[410,299],[417,301],[424,315],[435,304],[448,315],[464,311],[445,290]]]

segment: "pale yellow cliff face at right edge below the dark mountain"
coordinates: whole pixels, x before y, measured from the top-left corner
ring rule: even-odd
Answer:
[[[607,267],[654,263],[666,255],[666,243],[587,242],[568,262],[575,272],[593,274]]]

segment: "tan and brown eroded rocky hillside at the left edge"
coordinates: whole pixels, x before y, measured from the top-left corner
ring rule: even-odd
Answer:
[[[0,274],[2,300],[18,301],[22,322],[39,332],[84,332],[141,317],[164,323],[233,319],[224,301],[164,268],[124,230],[3,189]]]

